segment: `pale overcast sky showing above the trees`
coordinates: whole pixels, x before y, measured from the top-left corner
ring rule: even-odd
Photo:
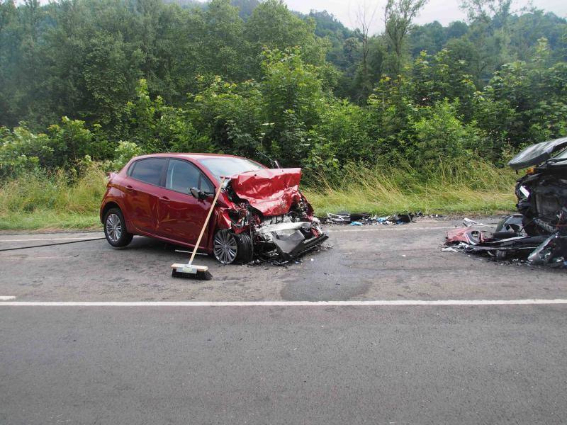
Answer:
[[[376,6],[376,23],[374,32],[383,29],[382,15],[386,0],[284,0],[289,8],[302,13],[309,13],[311,9],[318,11],[327,10],[335,15],[344,26],[355,28],[357,26],[355,12],[359,5],[366,3],[367,8],[372,9]],[[422,9],[420,16],[415,23],[428,23],[439,21],[447,25],[452,21],[464,21],[466,16],[459,9],[459,0],[430,0]],[[515,7],[525,6],[527,0],[516,0]],[[557,16],[567,18],[567,0],[533,0],[532,5],[544,9],[544,11],[554,12]]]

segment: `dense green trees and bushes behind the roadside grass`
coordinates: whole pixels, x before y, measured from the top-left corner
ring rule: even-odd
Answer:
[[[160,151],[502,164],[567,135],[564,19],[476,0],[414,26],[422,4],[369,35],[279,0],[0,0],[0,176]]]

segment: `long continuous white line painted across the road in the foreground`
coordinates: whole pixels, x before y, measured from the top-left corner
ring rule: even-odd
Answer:
[[[529,300],[370,300],[370,301],[16,301],[10,307],[359,307],[412,305],[549,305],[567,299]]]

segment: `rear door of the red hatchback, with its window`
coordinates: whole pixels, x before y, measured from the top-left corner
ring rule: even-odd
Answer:
[[[124,179],[125,209],[130,223],[138,230],[156,234],[159,197],[167,169],[167,158],[145,158],[134,162]]]

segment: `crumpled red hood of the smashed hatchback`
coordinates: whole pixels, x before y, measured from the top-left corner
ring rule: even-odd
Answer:
[[[264,215],[286,214],[301,200],[301,169],[260,169],[232,176],[230,184],[239,198]]]

